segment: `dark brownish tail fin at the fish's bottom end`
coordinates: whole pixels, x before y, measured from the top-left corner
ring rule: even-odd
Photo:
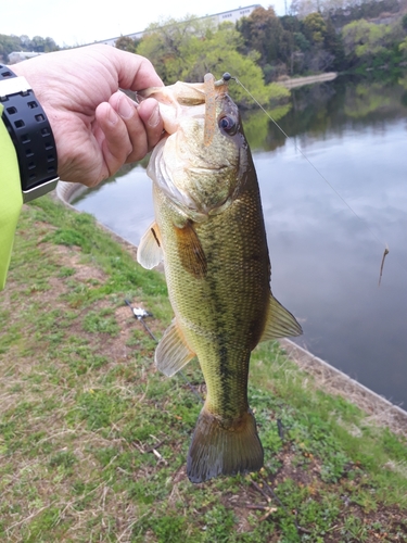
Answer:
[[[251,411],[230,429],[203,407],[188,452],[187,473],[191,482],[204,482],[219,475],[258,471],[263,446]]]

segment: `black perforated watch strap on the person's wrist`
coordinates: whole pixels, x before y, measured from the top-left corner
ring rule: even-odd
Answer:
[[[59,181],[55,140],[47,115],[25,77],[0,64],[2,121],[18,160],[24,202],[53,190]]]

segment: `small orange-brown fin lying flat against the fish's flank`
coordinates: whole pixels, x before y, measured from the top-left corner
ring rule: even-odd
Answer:
[[[206,256],[192,220],[187,220],[182,228],[175,226],[175,232],[179,258],[185,269],[198,279],[205,277],[207,270]]]

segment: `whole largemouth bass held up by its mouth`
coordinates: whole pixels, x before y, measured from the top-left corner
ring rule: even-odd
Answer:
[[[176,84],[144,91],[160,102],[167,136],[155,147],[155,223],[138,262],[164,260],[175,319],[155,351],[167,376],[195,355],[206,400],[192,437],[192,482],[262,468],[247,402],[249,363],[259,341],[302,333],[271,294],[270,262],[251,151],[226,84]],[[211,83],[212,81],[212,83]]]

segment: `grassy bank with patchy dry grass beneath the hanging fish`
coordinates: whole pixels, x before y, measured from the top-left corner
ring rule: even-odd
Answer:
[[[200,369],[165,378],[124,304],[171,318],[161,274],[49,198],[24,209],[0,293],[0,540],[407,540],[407,441],[325,394],[277,344],[253,355],[260,473],[192,485]],[[187,382],[188,381],[188,382]]]

